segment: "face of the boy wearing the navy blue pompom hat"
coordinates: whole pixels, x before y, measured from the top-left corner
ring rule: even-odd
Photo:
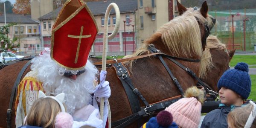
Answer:
[[[226,87],[221,87],[219,96],[221,103],[225,105],[236,105],[238,99],[241,99],[241,96]]]

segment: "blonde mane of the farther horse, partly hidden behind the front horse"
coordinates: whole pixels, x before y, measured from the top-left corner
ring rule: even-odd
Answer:
[[[219,41],[216,36],[209,35],[206,42],[207,47],[205,47],[205,50],[200,61],[200,78],[204,78],[207,74],[207,71],[214,67],[214,65],[212,64],[212,55],[210,53],[210,49],[224,50],[225,52],[227,52],[226,45],[222,44],[221,41]]]

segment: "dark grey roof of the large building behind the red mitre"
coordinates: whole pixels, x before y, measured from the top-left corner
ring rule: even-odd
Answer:
[[[104,1],[93,1],[87,2],[87,6],[93,13],[93,15],[105,15],[107,7],[110,3],[116,3],[119,7],[120,13],[129,13],[134,12],[137,9],[137,0],[104,0]],[[38,20],[48,20],[55,19],[58,16],[62,7],[55,9],[52,12],[49,12],[42,17],[39,17]],[[114,9],[111,10],[111,14],[115,13]]]

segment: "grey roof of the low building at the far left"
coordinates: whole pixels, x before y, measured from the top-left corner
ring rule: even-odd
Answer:
[[[0,23],[4,23],[4,14],[0,15]],[[6,23],[31,23],[38,24],[35,20],[31,19],[31,15],[21,14],[6,14]]]

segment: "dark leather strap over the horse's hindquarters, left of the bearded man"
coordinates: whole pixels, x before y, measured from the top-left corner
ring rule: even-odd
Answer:
[[[11,117],[12,117],[12,103],[13,103],[13,99],[17,93],[17,86],[20,84],[20,79],[23,75],[23,73],[25,72],[26,68],[29,66],[29,64],[31,64],[31,60],[28,61],[23,68],[20,70],[20,73],[18,74],[15,83],[12,87],[12,94],[11,94],[11,98],[10,98],[10,102],[9,102],[9,107],[7,109],[7,118],[6,118],[6,122],[7,122],[7,128],[11,128]]]

